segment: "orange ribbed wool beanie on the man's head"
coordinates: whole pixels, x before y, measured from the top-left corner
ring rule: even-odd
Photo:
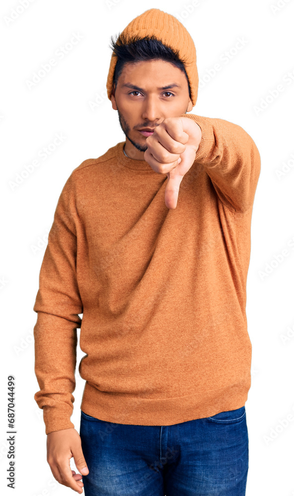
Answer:
[[[146,35],[154,35],[172,50],[177,50],[179,58],[184,63],[190,85],[191,100],[193,106],[195,105],[199,81],[196,65],[196,49],[191,35],[176,17],[159,8],[150,8],[129,22],[121,34],[127,36],[139,35],[142,38]],[[113,90],[116,63],[117,56],[112,53],[106,83],[109,99],[111,99]]]

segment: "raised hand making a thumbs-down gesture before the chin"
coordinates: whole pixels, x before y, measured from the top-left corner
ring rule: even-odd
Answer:
[[[176,208],[179,185],[195,160],[201,137],[201,127],[189,117],[168,117],[146,138],[144,160],[155,172],[168,176],[168,208]]]

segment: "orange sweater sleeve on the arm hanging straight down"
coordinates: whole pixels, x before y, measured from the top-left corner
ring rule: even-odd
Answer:
[[[83,306],[76,278],[77,238],[72,175],[67,179],[54,214],[39,276],[33,310],[35,374],[40,390],[34,399],[43,409],[46,434],[74,427],[73,411],[79,313]]]

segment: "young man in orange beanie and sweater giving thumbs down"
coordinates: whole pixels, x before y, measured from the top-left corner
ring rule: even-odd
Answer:
[[[34,306],[35,399],[54,477],[86,496],[245,495],[260,155],[239,125],[186,114],[197,88],[184,26],[154,8],[133,19],[107,80],[125,141],[76,167],[56,208]]]

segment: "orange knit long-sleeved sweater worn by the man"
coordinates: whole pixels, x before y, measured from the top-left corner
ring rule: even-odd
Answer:
[[[237,124],[181,117],[195,119],[202,139],[174,210],[167,176],[126,157],[124,141],[82,162],[61,191],[34,305],[34,398],[46,434],[74,427],[77,328],[88,415],[172,425],[247,400],[260,155]]]

